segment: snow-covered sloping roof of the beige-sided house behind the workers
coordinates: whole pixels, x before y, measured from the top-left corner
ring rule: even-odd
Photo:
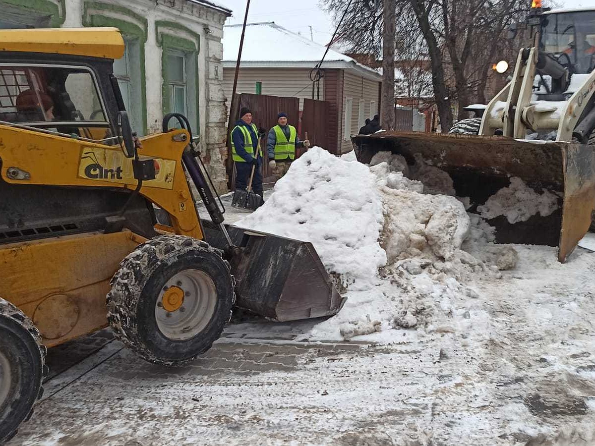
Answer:
[[[240,46],[242,25],[223,27],[223,66],[235,67]],[[312,42],[274,22],[246,25],[242,49],[243,67],[314,68],[320,62],[326,47]],[[359,64],[355,59],[329,49],[322,68],[344,68],[359,71],[362,76],[380,80],[373,68]]]

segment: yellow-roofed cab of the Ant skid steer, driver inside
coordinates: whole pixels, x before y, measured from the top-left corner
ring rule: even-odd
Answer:
[[[0,43],[0,125],[120,143],[117,29],[0,30]]]

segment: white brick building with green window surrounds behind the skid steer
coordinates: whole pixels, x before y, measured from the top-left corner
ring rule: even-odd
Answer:
[[[227,190],[223,24],[212,0],[0,0],[0,28],[115,26],[126,42],[114,73],[139,134],[164,114],[186,115],[218,191]]]

